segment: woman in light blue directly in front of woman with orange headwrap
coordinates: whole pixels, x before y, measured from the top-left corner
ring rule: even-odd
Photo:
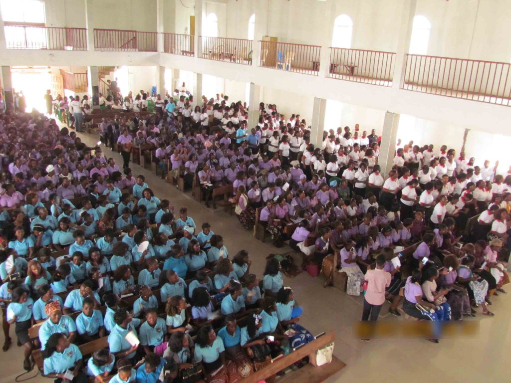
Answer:
[[[42,351],[45,377],[65,381],[65,372],[71,370],[74,375],[73,383],[87,383],[87,376],[82,372],[82,353],[77,345],[69,343],[63,333],[56,332],[45,346]]]

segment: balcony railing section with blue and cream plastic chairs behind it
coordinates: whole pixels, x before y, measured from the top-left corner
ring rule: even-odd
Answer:
[[[265,68],[318,76],[321,46],[261,41],[261,61]]]

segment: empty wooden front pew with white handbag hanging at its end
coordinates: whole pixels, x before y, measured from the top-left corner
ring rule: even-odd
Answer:
[[[315,358],[317,350],[331,344],[335,340],[334,331],[328,331],[322,337],[313,340],[310,343],[292,351],[289,355],[280,357],[274,360],[271,364],[259,371],[255,371],[239,383],[258,383],[264,381],[270,376],[275,375],[277,372],[284,370],[286,367],[293,365],[306,356],[310,360]],[[336,356],[332,355],[332,362],[326,365],[315,367],[311,363],[295,372],[286,374],[285,377],[278,380],[279,383],[285,381],[286,383],[319,383],[325,381],[328,377],[334,375],[346,367],[346,364],[341,362]]]

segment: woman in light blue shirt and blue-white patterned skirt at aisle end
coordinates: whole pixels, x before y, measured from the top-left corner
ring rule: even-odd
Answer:
[[[294,331],[294,335],[289,337],[290,346],[293,348],[314,340],[309,330],[298,324],[303,311],[303,308],[296,305],[291,288],[284,286],[278,291],[277,317],[286,330]]]

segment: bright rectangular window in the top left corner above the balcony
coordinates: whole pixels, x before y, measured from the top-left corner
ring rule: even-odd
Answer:
[[[44,24],[44,2],[41,0],[0,0],[2,18],[7,22]]]

